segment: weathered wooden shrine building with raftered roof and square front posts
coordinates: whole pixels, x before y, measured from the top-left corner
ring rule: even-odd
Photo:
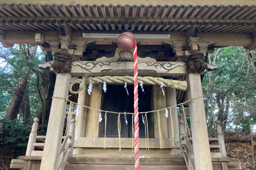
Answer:
[[[214,48],[255,48],[255,5],[255,0],[2,0],[2,45],[41,46],[53,54],[54,61],[39,67],[56,73],[46,136],[37,135],[35,118],[26,156],[13,159],[11,168],[134,168],[133,115],[126,114],[126,124],[124,114],[99,111],[133,112],[131,82],[106,81],[106,92],[103,89],[109,77],[133,76],[133,50],[117,48],[118,36],[130,26],[138,43],[138,75],[143,77],[139,111],[158,110],[147,113],[147,128],[141,117],[145,120],[145,114],[139,116],[140,168],[241,169],[239,162],[227,158],[218,120],[217,137],[208,138],[201,76],[217,69],[205,63]],[[94,81],[94,76],[105,79]],[[147,83],[146,77],[157,81]],[[169,85],[161,87],[163,81]],[[172,86],[175,82],[178,85]],[[185,91],[180,83],[188,86]],[[171,106],[175,107],[170,110]],[[161,110],[165,108],[168,118]],[[187,137],[184,116],[190,117],[192,138]]]

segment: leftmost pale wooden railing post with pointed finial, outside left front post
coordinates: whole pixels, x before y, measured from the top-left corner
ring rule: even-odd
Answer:
[[[38,122],[39,122],[39,119],[37,117],[34,118],[34,123],[32,125],[32,129],[28,138],[28,147],[27,147],[26,156],[31,156],[31,151],[34,151],[35,149],[35,146],[33,146],[33,143],[36,142]]]

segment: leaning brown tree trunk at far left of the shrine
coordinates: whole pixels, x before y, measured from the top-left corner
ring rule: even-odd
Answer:
[[[19,80],[18,85],[14,90],[12,102],[6,112],[4,119],[13,120],[17,118],[26,91],[27,83],[28,81],[25,78],[21,78]]]

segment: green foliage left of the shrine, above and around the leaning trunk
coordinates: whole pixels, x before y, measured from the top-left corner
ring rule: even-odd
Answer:
[[[22,77],[28,79],[25,95],[30,99],[31,117],[39,111],[41,100],[36,85],[38,83],[41,87],[42,70],[38,68],[38,64],[44,63],[45,53],[38,48],[35,57],[25,55],[30,47],[33,46],[15,45],[12,48],[4,48],[0,44],[0,119],[4,118],[14,89]]]

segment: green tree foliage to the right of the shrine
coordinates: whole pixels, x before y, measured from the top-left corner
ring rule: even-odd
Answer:
[[[255,83],[251,74],[253,60],[248,57],[248,52],[243,47],[216,49],[212,55],[209,55],[211,61],[215,55],[216,61],[213,64],[218,66],[218,70],[205,74],[202,82],[205,103],[208,100],[208,105],[205,107],[212,109],[207,113],[208,124],[212,119],[212,112],[215,120],[223,119],[223,113],[220,114],[220,102],[224,103],[222,109],[226,109],[229,96],[228,120],[223,122],[224,127],[226,126],[228,130],[250,132],[247,117],[250,116],[252,124],[256,124]]]

